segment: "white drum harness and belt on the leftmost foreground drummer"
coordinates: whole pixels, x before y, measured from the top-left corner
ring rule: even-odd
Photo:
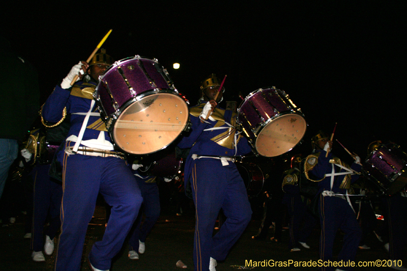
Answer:
[[[95,100],[91,102],[91,108],[87,113],[72,113],[76,115],[85,115],[83,119],[82,127],[80,128],[79,135],[71,135],[66,140],[75,142],[74,146],[68,146],[65,148],[65,153],[69,155],[73,154],[80,154],[80,155],[87,155],[87,156],[99,156],[99,157],[116,157],[120,159],[125,159],[125,155],[120,152],[112,151],[113,144],[105,139],[104,131],[100,131],[98,139],[90,139],[82,141],[83,134],[85,133],[86,126],[88,126],[88,121],[90,116],[100,116],[99,112],[92,112],[93,107],[95,106]],[[85,145],[84,147],[80,147],[79,145]],[[99,147],[99,148],[95,148]]]

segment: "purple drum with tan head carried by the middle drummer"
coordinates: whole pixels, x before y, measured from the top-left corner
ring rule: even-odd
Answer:
[[[307,128],[301,110],[275,87],[250,93],[239,106],[237,118],[252,147],[265,157],[288,152]]]

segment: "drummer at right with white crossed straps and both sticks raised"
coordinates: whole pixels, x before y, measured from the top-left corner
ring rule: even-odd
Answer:
[[[314,152],[306,158],[304,167],[307,178],[318,182],[318,214],[321,222],[319,257],[323,261],[332,260],[333,242],[340,228],[345,235],[338,260],[353,261],[362,230],[347,196],[347,189],[359,178],[355,172],[360,172],[360,158],[354,155],[355,162],[350,167],[339,158],[334,157],[329,152],[332,148],[332,141],[323,131],[319,131],[313,136],[311,143]],[[313,175],[312,179],[308,173]],[[333,267],[322,266],[320,269],[333,270]],[[345,266],[337,270],[352,270],[352,267]]]

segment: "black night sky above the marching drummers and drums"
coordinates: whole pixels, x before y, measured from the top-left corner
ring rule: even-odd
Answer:
[[[335,138],[362,161],[373,140],[407,149],[407,2],[140,3],[15,1],[1,11],[2,35],[38,69],[42,102],[111,28],[108,54],[157,58],[191,105],[211,73],[227,74],[225,100],[238,104],[239,92],[283,89],[309,125],[292,152],[309,153],[310,137],[331,133],[335,122]],[[334,144],[334,153],[350,159]]]

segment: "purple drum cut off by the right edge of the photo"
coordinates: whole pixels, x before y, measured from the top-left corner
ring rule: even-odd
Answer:
[[[385,195],[407,185],[407,154],[397,144],[387,143],[374,150],[363,163],[362,173]]]

